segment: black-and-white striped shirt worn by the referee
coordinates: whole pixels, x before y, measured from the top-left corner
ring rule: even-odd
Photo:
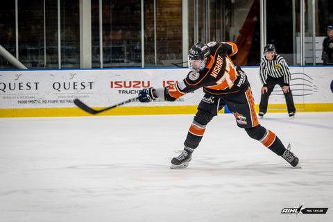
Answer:
[[[260,80],[262,85],[267,85],[267,76],[273,78],[284,78],[284,84],[289,85],[291,74],[286,60],[278,54],[275,54],[273,60],[268,60],[264,56],[260,64]]]

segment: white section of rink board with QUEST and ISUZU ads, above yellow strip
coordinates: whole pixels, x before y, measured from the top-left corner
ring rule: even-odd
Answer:
[[[243,67],[259,104],[259,67]],[[333,103],[332,67],[290,67],[295,103]],[[62,69],[0,71],[0,108],[74,108],[78,98],[93,107],[119,103],[137,96],[144,87],[164,87],[182,80],[188,69]],[[173,103],[129,103],[125,106],[197,105],[202,89]],[[284,96],[275,89],[269,103]]]

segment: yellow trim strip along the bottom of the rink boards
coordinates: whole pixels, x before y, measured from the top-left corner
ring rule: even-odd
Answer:
[[[333,112],[333,103],[306,103],[295,104],[296,112]],[[96,114],[99,116],[119,115],[146,115],[146,114],[195,114],[196,105],[178,106],[142,106],[142,107],[118,107],[112,110]],[[96,110],[101,108],[96,108]],[[259,112],[259,105],[255,105]],[[270,104],[267,112],[287,112],[285,104]],[[224,113],[223,110],[220,113]],[[36,109],[2,109],[0,118],[10,117],[87,117],[92,116],[79,108],[36,108]]]

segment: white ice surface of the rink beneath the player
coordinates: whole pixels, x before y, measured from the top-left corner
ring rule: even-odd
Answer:
[[[333,221],[333,112],[260,119],[302,169],[219,114],[171,170],[193,117],[0,119],[0,221]],[[328,211],[281,214],[300,205]]]

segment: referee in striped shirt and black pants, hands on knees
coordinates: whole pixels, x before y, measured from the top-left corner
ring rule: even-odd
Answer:
[[[268,98],[275,85],[280,85],[286,99],[289,117],[295,117],[293,94],[289,87],[291,74],[286,60],[275,51],[273,44],[264,47],[264,57],[260,64],[260,80],[262,81],[262,98],[259,104],[259,117],[263,118],[267,112]]]

